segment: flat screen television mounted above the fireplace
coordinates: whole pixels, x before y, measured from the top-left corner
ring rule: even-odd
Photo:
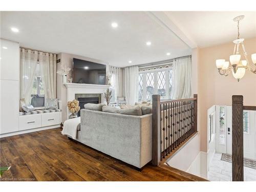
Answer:
[[[106,66],[73,58],[73,83],[106,84]]]

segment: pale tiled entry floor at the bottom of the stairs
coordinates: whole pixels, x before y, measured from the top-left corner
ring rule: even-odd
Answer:
[[[221,155],[216,153],[209,164],[210,181],[232,181],[232,164],[222,161]],[[256,181],[256,169],[244,167],[244,181]]]

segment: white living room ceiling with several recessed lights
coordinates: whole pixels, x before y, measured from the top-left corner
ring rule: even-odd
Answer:
[[[118,28],[113,29],[112,22]],[[11,27],[19,32],[13,33]],[[148,12],[1,12],[1,38],[21,47],[81,55],[120,67],[191,54]],[[146,41],[152,45],[146,46]]]

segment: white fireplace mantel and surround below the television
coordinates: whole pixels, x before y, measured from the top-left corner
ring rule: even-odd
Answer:
[[[63,83],[67,88],[67,101],[75,99],[75,94],[101,94],[101,102],[103,102],[103,93],[110,86],[104,84],[82,84],[82,83]],[[65,107],[67,108],[66,104]],[[69,118],[67,108],[67,119]]]

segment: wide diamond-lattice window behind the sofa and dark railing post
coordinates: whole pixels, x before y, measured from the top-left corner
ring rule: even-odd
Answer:
[[[138,100],[151,101],[153,94],[169,99],[172,90],[172,69],[163,68],[142,71],[138,74]]]

